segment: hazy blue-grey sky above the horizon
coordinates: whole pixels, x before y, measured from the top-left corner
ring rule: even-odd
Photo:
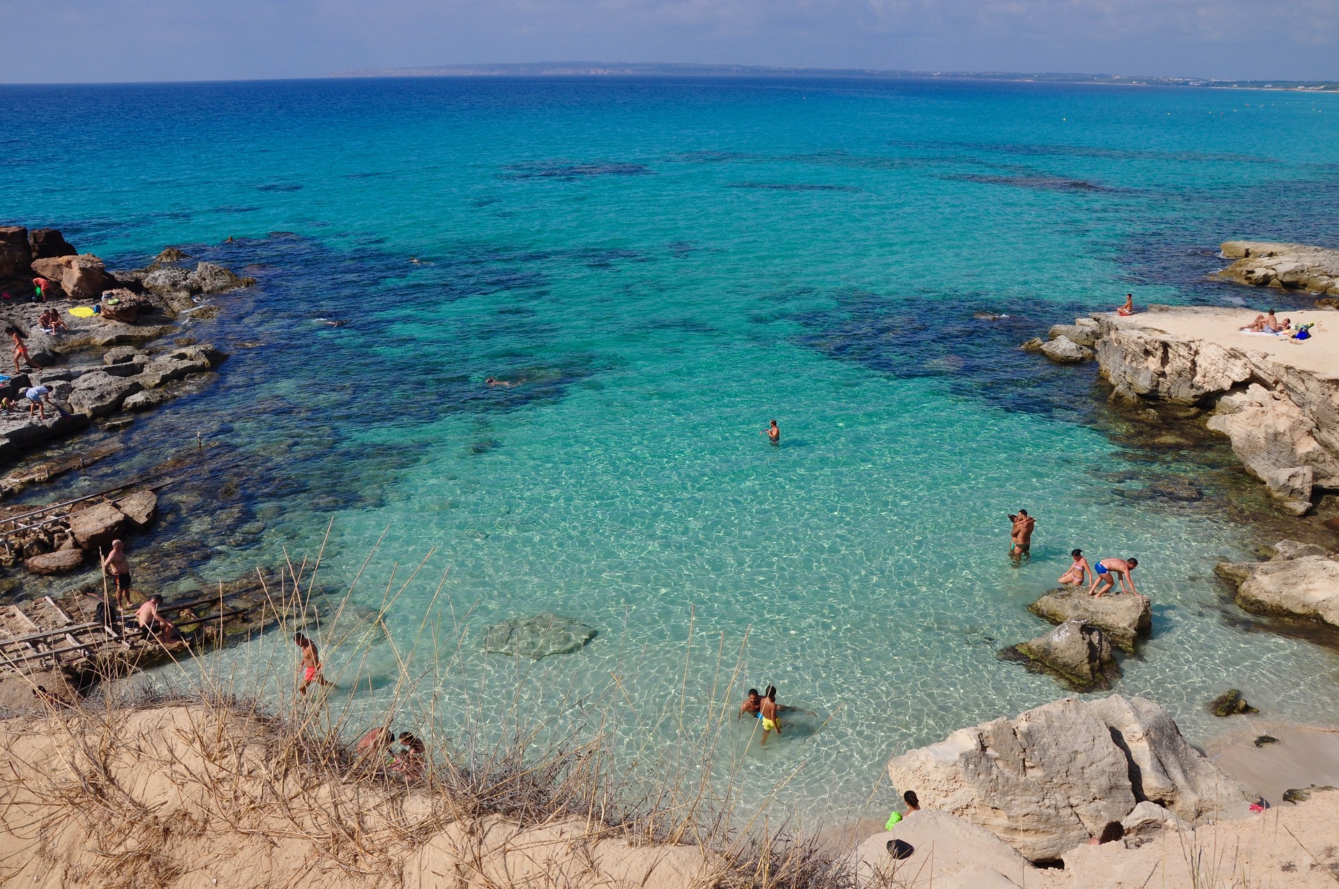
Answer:
[[[1339,0],[0,0],[0,83],[558,60],[1339,80]]]

